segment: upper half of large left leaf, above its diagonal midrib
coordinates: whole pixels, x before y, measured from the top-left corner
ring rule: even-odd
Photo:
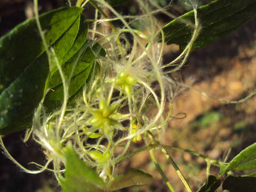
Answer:
[[[39,17],[47,43],[54,43],[73,24],[82,9],[62,7]],[[0,85],[2,92],[45,51],[35,19],[27,20],[0,39]],[[17,65],[19,67],[17,67]]]

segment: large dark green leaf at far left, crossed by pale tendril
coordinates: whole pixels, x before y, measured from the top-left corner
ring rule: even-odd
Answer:
[[[81,12],[77,7],[63,7],[42,14],[39,20],[46,42],[67,38]],[[73,41],[68,42],[65,47],[70,49]],[[35,19],[21,23],[0,39],[0,134],[24,129],[20,121],[31,119],[48,75],[47,55]]]

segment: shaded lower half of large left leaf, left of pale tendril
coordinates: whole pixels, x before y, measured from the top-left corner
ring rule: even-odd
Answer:
[[[42,63],[41,63],[42,62]],[[49,73],[47,57],[39,57],[0,95],[0,134],[18,128],[8,125],[31,116],[44,94],[44,85]],[[40,71],[40,73],[38,73]]]

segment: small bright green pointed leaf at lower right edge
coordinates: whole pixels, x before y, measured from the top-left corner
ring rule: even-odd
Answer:
[[[220,171],[225,174],[231,170],[250,170],[256,168],[256,143],[242,150],[229,164]]]

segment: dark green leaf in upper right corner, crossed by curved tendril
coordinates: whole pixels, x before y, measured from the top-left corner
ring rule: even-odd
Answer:
[[[254,0],[215,0],[198,7],[198,18],[203,28],[193,45],[193,49],[209,45],[231,33],[254,17],[255,10],[256,2]],[[193,29],[181,20],[194,23],[194,11],[174,19],[163,28],[163,31],[165,42],[178,44],[182,50],[189,42]],[[160,34],[157,39],[161,41]]]

